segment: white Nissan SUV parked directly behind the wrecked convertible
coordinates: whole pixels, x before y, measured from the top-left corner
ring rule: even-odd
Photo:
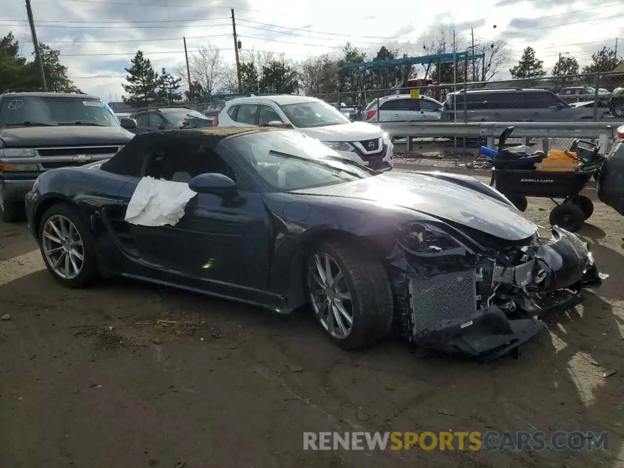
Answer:
[[[217,127],[290,124],[333,150],[374,170],[394,167],[394,147],[383,130],[351,122],[339,110],[314,97],[271,95],[229,100],[213,124]]]

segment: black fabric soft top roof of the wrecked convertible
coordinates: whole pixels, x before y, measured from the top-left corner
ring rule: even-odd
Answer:
[[[144,157],[154,145],[175,144],[189,140],[202,141],[208,149],[214,150],[219,142],[228,137],[258,132],[283,131],[281,127],[204,127],[200,129],[162,130],[135,135],[130,143],[125,145],[100,168],[106,172],[120,175],[139,175]]]

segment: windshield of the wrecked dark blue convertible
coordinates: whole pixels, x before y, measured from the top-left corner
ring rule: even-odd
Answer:
[[[227,145],[258,175],[270,192],[290,192],[372,177],[319,140],[298,132],[273,130],[239,135]]]

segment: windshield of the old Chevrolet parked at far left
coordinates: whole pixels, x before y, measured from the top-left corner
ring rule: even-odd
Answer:
[[[119,127],[102,101],[86,97],[19,96],[0,102],[0,127],[94,125]]]

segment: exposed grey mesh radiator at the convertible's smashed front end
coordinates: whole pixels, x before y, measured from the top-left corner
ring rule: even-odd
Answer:
[[[477,310],[477,271],[444,273],[409,281],[414,334],[440,328],[446,321]]]

